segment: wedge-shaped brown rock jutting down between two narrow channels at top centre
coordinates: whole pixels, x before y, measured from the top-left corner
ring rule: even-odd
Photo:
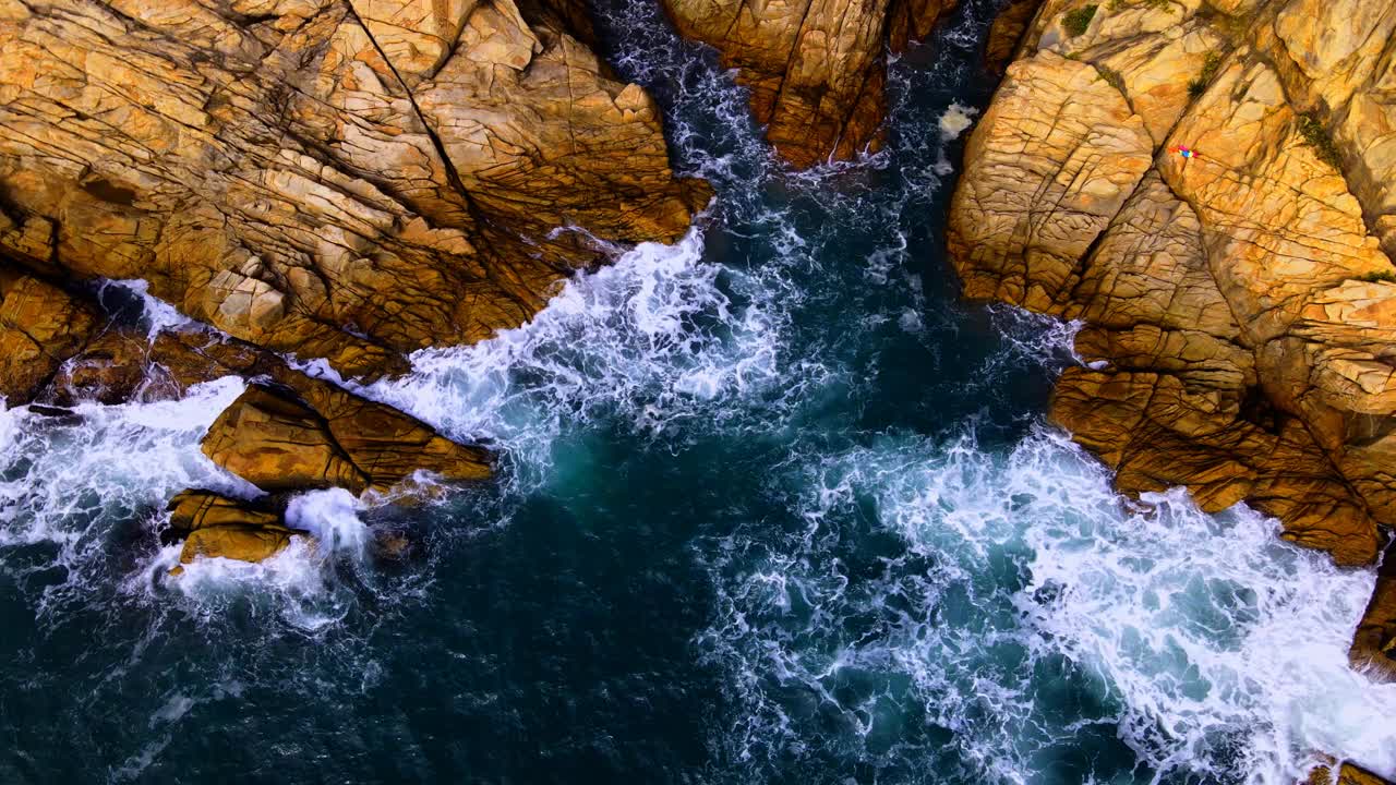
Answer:
[[[926,38],[956,0],[663,0],[751,89],[766,138],[797,168],[877,149],[886,49]]]

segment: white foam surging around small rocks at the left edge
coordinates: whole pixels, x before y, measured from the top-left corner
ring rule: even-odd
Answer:
[[[310,531],[318,549],[295,538],[262,564],[201,559],[184,575],[165,577],[180,552],[155,538],[170,496],[188,487],[261,494],[200,450],[208,426],[244,388],[243,380],[226,377],[195,386],[179,401],[80,404],[66,413],[0,411],[0,553],[7,555],[0,566],[34,581],[39,617],[61,617],[114,584],[120,594],[147,598],[169,587],[204,619],[254,592],[274,598],[297,627],[334,622],[336,615],[325,612],[332,605],[325,562],[335,555],[362,559],[369,542],[357,515],[362,503],[345,490],[290,500],[288,520]],[[57,582],[54,568],[63,575]]]

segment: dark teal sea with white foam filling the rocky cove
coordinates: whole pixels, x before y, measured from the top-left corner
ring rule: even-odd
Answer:
[[[1346,666],[1371,573],[1244,507],[1117,496],[1043,420],[1072,327],[956,300],[941,230],[993,88],[994,3],[962,6],[893,64],[888,148],[796,176],[711,50],[603,4],[713,203],[360,390],[489,441],[498,483],[309,493],[318,549],[168,580],[163,501],[254,493],[198,450],[243,383],[0,412],[0,781],[1396,772],[1396,686]]]

